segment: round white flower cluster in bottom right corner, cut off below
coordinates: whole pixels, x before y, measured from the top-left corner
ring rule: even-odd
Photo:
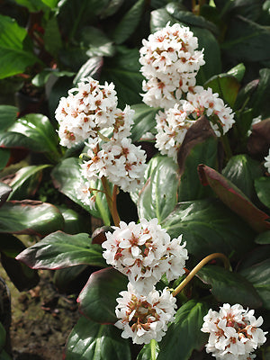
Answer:
[[[250,353],[266,342],[266,332],[258,328],[262,317],[256,319],[254,310],[244,310],[239,304],[223,304],[219,312],[210,310],[203,320],[201,330],[210,333],[206,351],[218,360],[255,358]]]

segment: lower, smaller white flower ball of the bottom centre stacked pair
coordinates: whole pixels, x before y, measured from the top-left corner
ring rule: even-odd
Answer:
[[[119,320],[114,325],[123,330],[121,337],[132,338],[134,344],[148,344],[151,339],[160,341],[167,323],[175,319],[173,295],[167,289],[158,293],[154,288],[146,296],[139,295],[131,284],[120,295],[115,309]]]

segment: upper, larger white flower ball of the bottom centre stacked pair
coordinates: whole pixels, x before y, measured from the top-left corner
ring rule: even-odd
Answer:
[[[121,221],[119,228],[112,228],[102,245],[103,257],[128,276],[138,293],[148,293],[164,274],[169,281],[184,275],[188,257],[182,236],[171,240],[157,219],[143,219],[139,224]]]

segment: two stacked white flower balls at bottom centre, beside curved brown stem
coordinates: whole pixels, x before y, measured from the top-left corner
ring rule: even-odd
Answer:
[[[168,321],[174,320],[175,298],[167,289],[161,295],[154,285],[166,274],[168,281],[184,275],[188,258],[182,236],[171,239],[157,219],[141,220],[139,224],[121,221],[114,231],[107,232],[103,257],[130,283],[128,292],[117,299],[116,326],[123,329],[123,338],[136,344],[148,344],[151,338],[163,337]]]

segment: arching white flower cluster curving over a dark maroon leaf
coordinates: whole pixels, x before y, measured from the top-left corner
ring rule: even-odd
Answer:
[[[176,161],[186,131],[202,115],[209,117],[211,128],[219,137],[235,122],[231,109],[223,103],[219,94],[212,94],[211,88],[204,90],[202,86],[195,86],[193,92],[187,93],[186,100],[180,100],[174,107],[157,113],[156,148]]]

